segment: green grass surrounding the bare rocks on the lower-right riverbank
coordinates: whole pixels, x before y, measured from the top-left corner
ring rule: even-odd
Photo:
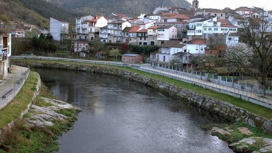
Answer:
[[[233,130],[231,135],[224,135],[219,134],[218,132],[212,133],[212,135],[217,136],[219,139],[222,139],[224,141],[227,141],[228,143],[234,143],[242,140],[243,138],[249,138],[249,137],[262,137],[262,138],[272,138],[272,135],[266,134],[266,132],[260,128],[257,127],[251,127],[248,124],[245,123],[234,123],[231,125],[228,124],[213,124],[213,125],[202,125],[202,129],[209,131],[212,129],[212,127],[219,127],[220,129],[228,128],[229,130]],[[246,127],[252,132],[251,135],[242,134],[237,128],[239,127]],[[253,152],[258,151],[261,147],[265,147],[265,144],[261,140],[256,140],[256,142],[253,143],[253,145],[250,145],[249,147],[246,147],[244,152]],[[240,151],[239,145],[235,146],[233,148],[234,151]]]

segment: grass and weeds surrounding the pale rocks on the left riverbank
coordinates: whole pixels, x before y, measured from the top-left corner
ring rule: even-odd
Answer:
[[[35,104],[40,107],[50,106],[40,97],[54,98],[53,94],[44,86],[41,86],[40,95],[37,96]],[[30,112],[31,113],[31,112]],[[3,142],[0,143],[0,153],[20,152],[20,153],[48,153],[59,149],[57,139],[59,136],[70,130],[74,121],[77,119],[75,109],[63,109],[58,111],[68,118],[64,121],[54,121],[51,127],[27,127],[24,120],[28,118],[29,113],[23,117],[23,121],[15,123],[11,133],[4,133]]]

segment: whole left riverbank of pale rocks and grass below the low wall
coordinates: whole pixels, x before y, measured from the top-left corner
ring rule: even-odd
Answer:
[[[2,133],[0,153],[57,151],[57,139],[72,128],[81,111],[74,105],[55,100],[53,94],[42,85],[40,95],[28,113],[20,121],[14,122],[10,130]]]

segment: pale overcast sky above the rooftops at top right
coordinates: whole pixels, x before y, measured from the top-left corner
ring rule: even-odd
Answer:
[[[193,0],[187,0],[192,4]],[[272,0],[198,0],[200,8],[216,8],[223,9],[229,7],[231,9],[238,8],[240,6],[247,7],[261,7],[264,10],[272,10]]]

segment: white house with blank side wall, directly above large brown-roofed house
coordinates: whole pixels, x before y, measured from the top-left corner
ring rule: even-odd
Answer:
[[[158,44],[161,45],[165,41],[177,38],[177,28],[174,26],[159,26],[158,27]]]

